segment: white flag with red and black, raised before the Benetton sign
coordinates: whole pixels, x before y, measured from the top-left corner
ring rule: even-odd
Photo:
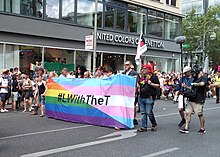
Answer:
[[[138,42],[137,53],[135,56],[135,63],[139,65],[141,63],[141,55],[147,51],[147,46],[145,44],[143,33],[140,35],[140,39]]]

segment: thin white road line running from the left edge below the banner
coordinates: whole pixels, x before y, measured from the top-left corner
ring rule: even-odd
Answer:
[[[24,136],[31,136],[31,135],[38,135],[38,134],[45,134],[45,133],[51,133],[51,132],[58,132],[58,131],[65,131],[65,130],[71,130],[71,129],[78,129],[78,128],[84,128],[84,127],[89,127],[89,126],[91,126],[91,125],[83,125],[83,126],[76,126],[76,127],[70,127],[70,128],[46,130],[46,131],[40,131],[40,132],[33,132],[33,133],[20,134],[20,135],[14,135],[14,136],[7,136],[7,137],[0,138],[0,140],[17,138],[17,137],[24,137]]]

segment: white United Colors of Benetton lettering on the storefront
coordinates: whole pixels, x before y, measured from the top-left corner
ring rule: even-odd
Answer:
[[[129,44],[129,45],[137,45],[139,41],[139,37],[124,36],[124,35],[110,34],[110,33],[97,33],[97,40]],[[160,40],[145,39],[145,43],[148,47],[164,48],[164,42]]]

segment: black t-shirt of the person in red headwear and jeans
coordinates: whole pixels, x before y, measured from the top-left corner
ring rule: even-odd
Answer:
[[[145,83],[143,82],[143,79],[147,79],[148,76],[140,76],[137,77],[137,82],[140,85],[140,98],[148,98],[150,96],[156,96],[157,95],[157,89],[147,83],[147,80]],[[149,80],[154,84],[160,84],[159,79],[156,75],[150,76]]]

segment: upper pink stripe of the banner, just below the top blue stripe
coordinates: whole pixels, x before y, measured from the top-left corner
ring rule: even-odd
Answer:
[[[80,95],[121,95],[127,97],[135,96],[135,88],[129,86],[120,86],[120,85],[112,85],[112,86],[102,86],[102,87],[92,87],[92,86],[70,86],[70,85],[62,85],[67,90],[71,91],[74,94]]]

